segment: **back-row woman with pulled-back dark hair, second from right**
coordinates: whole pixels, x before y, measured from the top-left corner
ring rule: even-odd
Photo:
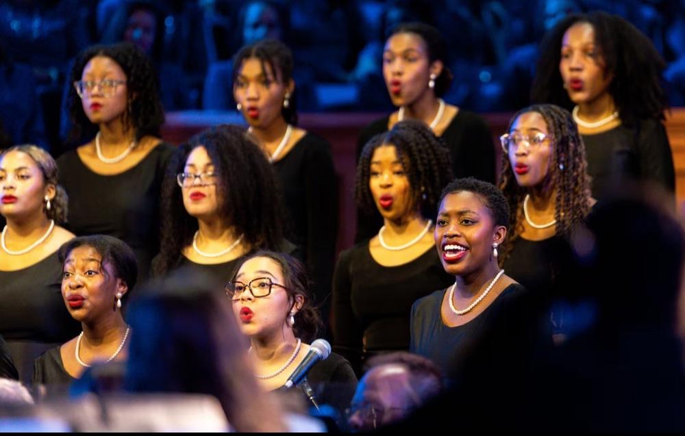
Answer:
[[[383,77],[398,110],[366,126],[359,135],[357,155],[366,142],[402,120],[421,120],[438,136],[451,155],[455,177],[495,182],[495,147],[490,129],[473,112],[445,103],[452,73],[445,65],[447,44],[437,29],[424,23],[395,27],[383,49]],[[371,238],[382,218],[360,214],[356,242]]]

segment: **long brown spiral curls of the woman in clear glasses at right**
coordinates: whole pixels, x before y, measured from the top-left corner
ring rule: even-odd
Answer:
[[[555,105],[532,105],[516,112],[509,122],[507,131],[511,131],[519,116],[529,112],[537,112],[543,117],[548,136],[553,143],[550,173],[543,183],[550,183],[556,192],[556,234],[565,237],[570,235],[590,213],[590,176],[587,172],[585,145],[571,113]],[[563,170],[560,170],[561,166]],[[526,188],[521,188],[516,183],[506,154],[502,155],[501,168],[499,188],[507,198],[512,226],[499,257],[500,263],[510,255],[513,242],[523,232],[523,198],[528,193]]]

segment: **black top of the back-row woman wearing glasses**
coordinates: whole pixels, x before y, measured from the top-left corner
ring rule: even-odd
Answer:
[[[99,175],[77,151],[57,159],[60,184],[69,194],[66,228],[78,236],[103,234],[123,240],[138,258],[138,279],[149,275],[160,247],[160,189],[174,147],[159,144],[133,168]]]

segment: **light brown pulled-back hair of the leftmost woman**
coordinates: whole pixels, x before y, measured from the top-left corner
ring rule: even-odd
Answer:
[[[45,212],[45,216],[47,216],[49,220],[55,220],[58,225],[66,222],[69,196],[66,195],[66,191],[62,188],[62,185],[59,184],[58,168],[55,159],[53,159],[47,151],[41,149],[37,145],[24,144],[16,145],[3,151],[0,153],[0,160],[2,160],[3,156],[10,153],[10,151],[20,151],[21,153],[29,155],[29,157],[36,162],[40,172],[42,172],[45,184],[55,186],[55,198],[50,201],[50,210],[47,209],[46,203],[43,205],[43,212]]]

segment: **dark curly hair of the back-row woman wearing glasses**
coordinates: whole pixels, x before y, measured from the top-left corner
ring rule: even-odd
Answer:
[[[126,75],[128,104],[123,114],[126,128],[134,130],[136,140],[146,135],[160,136],[164,109],[160,100],[158,75],[149,57],[129,42],[88,47],[78,55],[71,68],[70,84],[81,80],[84,68],[96,56],[110,57]],[[69,86],[66,104],[71,119],[69,142],[77,144],[81,138],[94,137],[98,127],[84,113],[81,98],[74,86]]]

